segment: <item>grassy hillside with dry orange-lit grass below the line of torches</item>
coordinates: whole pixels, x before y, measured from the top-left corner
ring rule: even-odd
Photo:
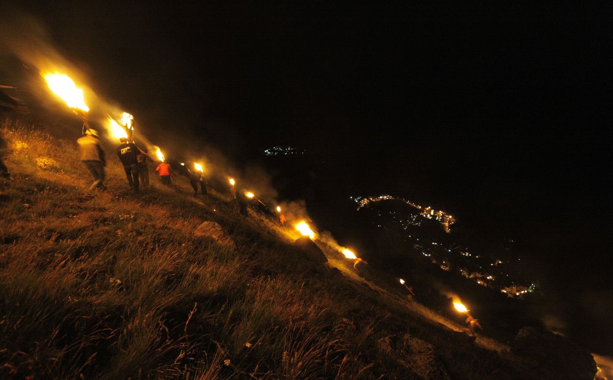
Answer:
[[[90,193],[77,134],[0,132],[13,177],[0,183],[1,378],[531,377],[461,317],[319,241],[329,265],[308,260],[293,231],[224,194],[152,175],[135,196],[112,145],[108,191]]]

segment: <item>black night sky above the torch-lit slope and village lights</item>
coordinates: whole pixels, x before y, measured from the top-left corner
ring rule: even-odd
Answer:
[[[343,197],[429,201],[482,236],[519,238],[548,278],[611,295],[609,34],[598,9],[21,10],[175,154],[212,145],[243,164],[274,145],[303,148]]]

